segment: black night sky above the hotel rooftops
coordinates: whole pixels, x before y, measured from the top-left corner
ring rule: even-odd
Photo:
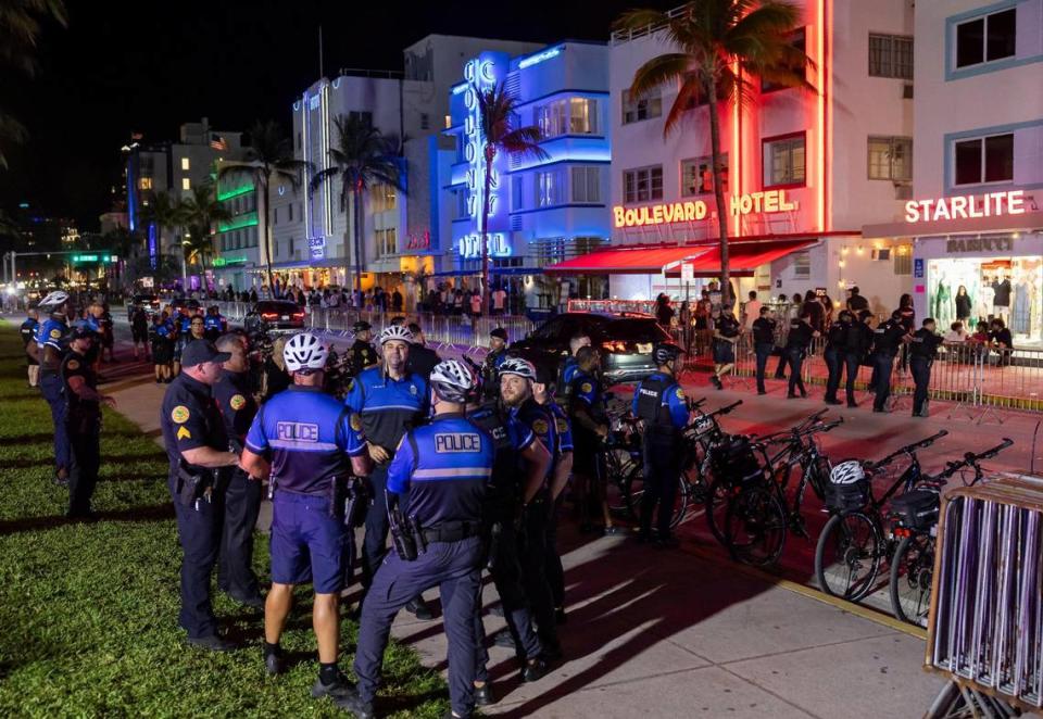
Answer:
[[[176,139],[184,122],[241,130],[272,118],[288,131],[293,99],[325,68],[402,70],[402,49],[430,33],[554,42],[607,40],[623,10],[679,2],[370,2],[66,0],[49,24],[34,80],[2,78],[0,97],[30,133],[0,172],[0,207],[75,218],[97,230],[120,178],[120,147]],[[103,10],[102,10],[103,9]]]

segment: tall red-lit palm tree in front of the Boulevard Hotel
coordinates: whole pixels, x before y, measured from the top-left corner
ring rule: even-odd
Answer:
[[[731,273],[718,106],[731,102],[741,108],[749,102],[753,97],[751,78],[809,87],[805,73],[813,63],[792,43],[800,16],[795,5],[780,0],[692,0],[669,15],[659,10],[631,10],[616,22],[617,29],[662,29],[676,50],[641,65],[630,85],[636,98],[662,86],[679,88],[663,127],[664,138],[680,127],[694,103],[705,101],[708,106],[725,298],[731,293]]]

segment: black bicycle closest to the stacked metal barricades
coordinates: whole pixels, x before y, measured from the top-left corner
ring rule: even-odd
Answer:
[[[891,560],[891,609],[895,618],[927,627],[942,487],[950,477],[966,468],[972,469],[973,476],[970,481],[965,479],[964,485],[977,484],[983,476],[980,463],[991,459],[1011,444],[1011,440],[1004,439],[984,452],[967,452],[962,461],[947,463],[943,471],[925,478],[919,489],[891,503],[892,535],[901,538]]]

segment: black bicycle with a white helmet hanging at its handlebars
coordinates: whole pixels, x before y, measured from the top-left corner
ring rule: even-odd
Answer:
[[[917,450],[932,445],[947,436],[941,430],[918,442],[906,444],[878,462],[865,463],[866,479],[856,485],[830,483],[826,504],[832,514],[819,534],[815,548],[815,577],[818,586],[831,596],[851,602],[862,600],[872,591],[880,563],[894,555],[895,543],[885,539],[883,508],[901,489],[913,490],[922,480]],[[879,472],[897,457],[906,455],[909,466],[877,497],[869,476]]]

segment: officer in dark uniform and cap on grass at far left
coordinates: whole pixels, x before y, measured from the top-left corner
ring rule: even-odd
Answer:
[[[70,519],[93,519],[90,499],[101,466],[101,404],[116,406],[111,396],[98,392],[98,377],[87,362],[95,332],[77,327],[70,335],[68,352],[60,371],[65,396],[65,431],[70,441],[68,512]]]

